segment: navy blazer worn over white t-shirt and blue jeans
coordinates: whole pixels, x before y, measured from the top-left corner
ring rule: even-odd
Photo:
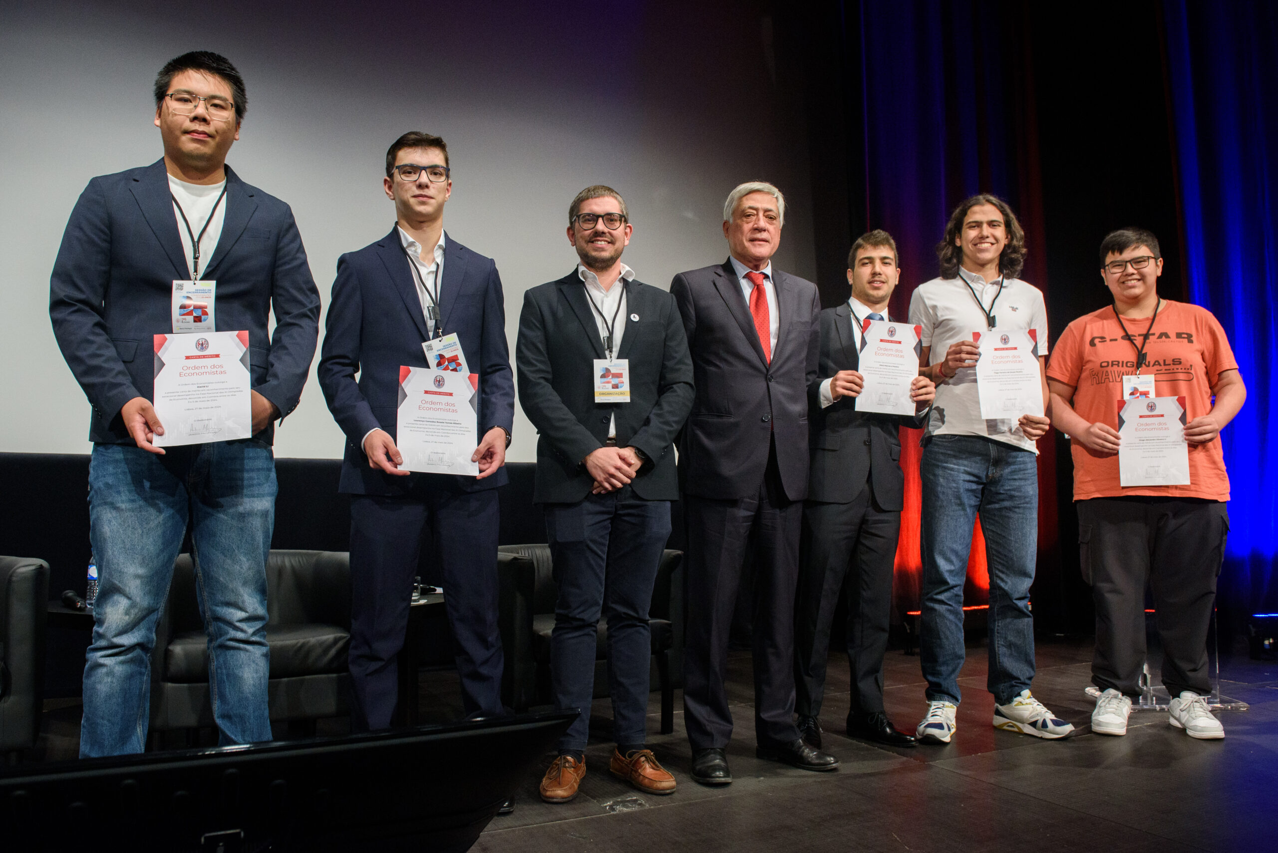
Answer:
[[[230,166],[222,203],[222,234],[201,278],[217,282],[219,331],[248,331],[253,389],[288,415],[314,358],[320,292],[288,204]],[[190,269],[164,160],[91,180],[66,222],[49,287],[58,346],[93,406],[89,441],[134,443],[120,409],[152,398],[152,341],[173,331],[175,278],[190,278]],[[259,434],[272,437],[273,425]]]

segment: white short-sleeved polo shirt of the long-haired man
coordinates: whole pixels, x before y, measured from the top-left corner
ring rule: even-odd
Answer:
[[[987,282],[967,269],[962,269],[960,275],[962,278],[933,278],[924,282],[910,298],[910,322],[923,327],[921,343],[932,347],[929,364],[944,361],[951,343],[970,341],[973,332],[989,331],[985,312],[998,318],[996,328],[1001,332],[1034,329],[1039,355],[1047,355],[1047,306],[1043,291],[1019,278],[1008,278],[999,292],[998,280]],[[966,282],[971,282],[971,286]],[[978,296],[980,306],[976,304]],[[937,383],[937,400],[932,406],[925,434],[980,435],[1038,452],[1016,420],[985,420],[980,416],[975,366],[962,368],[952,379]]]

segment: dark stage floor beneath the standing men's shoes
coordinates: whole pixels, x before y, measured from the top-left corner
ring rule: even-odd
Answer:
[[[1134,713],[1127,736],[1091,734],[1091,641],[1040,640],[1034,695],[1077,727],[1065,741],[997,732],[985,691],[985,646],[969,647],[955,742],[892,750],[849,739],[847,659],[831,655],[822,713],[836,773],[808,773],[754,757],[749,653],[732,653],[737,729],[728,748],[736,781],[689,778],[690,750],[676,697],[675,732],[649,746],[679,779],[668,797],[640,794],[608,771],[607,700],[598,700],[578,798],[562,806],[525,780],[515,813],[498,817],[475,850],[1273,850],[1278,849],[1278,664],[1236,654],[1222,661],[1222,692],[1251,705],[1224,711],[1223,741],[1195,741],[1167,714]],[[912,729],[927,701],[919,659],[889,651],[886,706]],[[658,693],[649,732],[658,730]],[[426,697],[423,696],[423,701]],[[553,756],[547,755],[542,769]]]

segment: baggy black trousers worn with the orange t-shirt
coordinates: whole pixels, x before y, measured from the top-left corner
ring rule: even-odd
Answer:
[[[1097,605],[1091,683],[1136,697],[1145,663],[1145,585],[1172,696],[1212,692],[1206,635],[1229,532],[1219,501],[1130,497],[1079,501],[1079,562]]]

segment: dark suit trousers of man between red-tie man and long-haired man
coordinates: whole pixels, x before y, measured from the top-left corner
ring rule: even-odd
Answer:
[[[847,590],[851,710],[883,710],[883,655],[892,615],[892,567],[900,532],[901,512],[881,508],[869,483],[851,503],[809,501],[804,507],[795,605],[795,711],[799,714],[820,714],[829,630],[841,589]]]

